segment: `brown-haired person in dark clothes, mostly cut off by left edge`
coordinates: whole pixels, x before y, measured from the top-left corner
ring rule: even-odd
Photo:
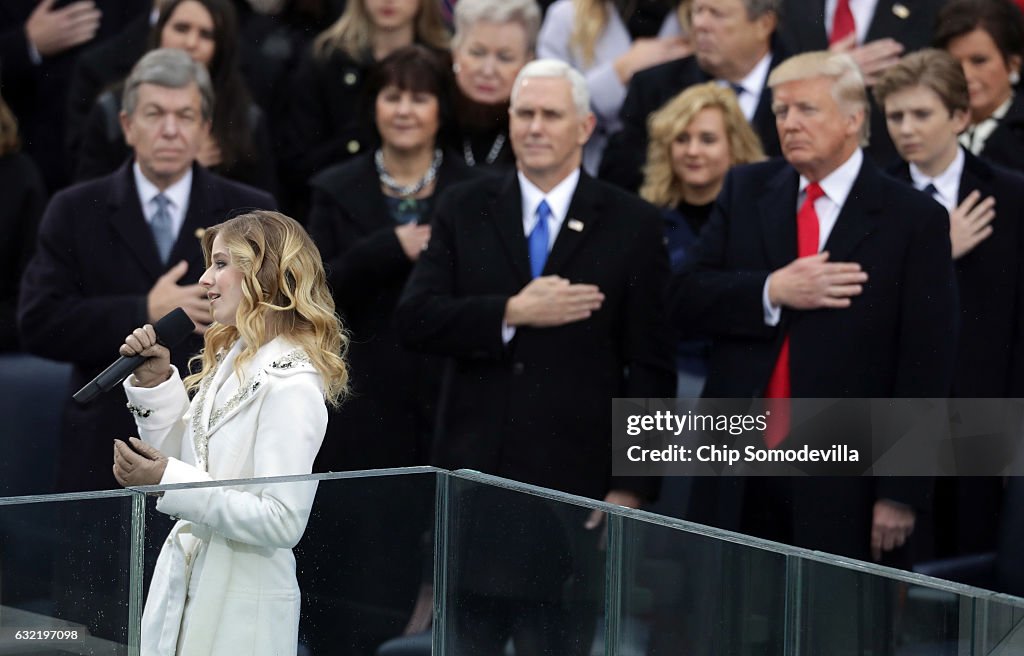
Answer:
[[[18,351],[17,288],[36,247],[36,229],[46,203],[43,179],[32,159],[20,152],[17,121],[0,98],[0,352]]]

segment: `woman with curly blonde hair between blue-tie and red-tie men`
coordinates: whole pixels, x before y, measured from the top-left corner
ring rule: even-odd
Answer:
[[[647,120],[650,140],[640,195],[662,208],[669,257],[678,271],[686,252],[711,217],[725,174],[733,166],[765,158],[761,141],[743,118],[736,94],[708,82],[692,86]],[[678,394],[700,395],[707,373],[700,341],[677,349]]]

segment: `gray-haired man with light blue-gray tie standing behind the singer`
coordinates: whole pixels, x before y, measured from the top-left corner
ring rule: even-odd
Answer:
[[[184,366],[212,320],[197,283],[203,229],[238,208],[275,206],[265,192],[196,164],[213,101],[209,74],[185,52],[148,52],[125,83],[121,126],[133,160],[60,191],[46,209],[22,281],[18,326],[29,351],[74,364],[73,390],[116,357],[125,335],[176,307],[197,325],[174,352]],[[115,487],[111,439],[135,431],[124,398],[112,393],[87,406],[70,400],[58,490]]]

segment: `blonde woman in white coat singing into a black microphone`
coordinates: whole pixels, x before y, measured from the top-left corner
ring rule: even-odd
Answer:
[[[200,285],[214,323],[183,381],[153,326],[122,355],[147,359],[125,381],[138,438],[115,441],[125,486],[309,474],[348,370],[347,339],[319,252],[302,226],[254,211],[208,228]],[[195,393],[189,401],[188,393]],[[167,490],[177,518],[142,615],[142,654],[294,654],[299,587],[292,548],[308,482]]]

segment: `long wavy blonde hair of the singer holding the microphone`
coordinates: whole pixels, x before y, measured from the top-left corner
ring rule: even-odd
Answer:
[[[316,245],[294,219],[256,210],[206,229],[207,267],[217,236],[243,274],[242,301],[236,325],[214,323],[206,332],[203,350],[188,362],[189,369],[199,370],[185,379],[185,387],[195,391],[216,367],[218,354],[237,340],[245,344],[234,362],[241,378],[242,366],[261,345],[285,336],[309,356],[324,378],[325,400],[336,406],[348,385],[348,337],[335,312]]]

